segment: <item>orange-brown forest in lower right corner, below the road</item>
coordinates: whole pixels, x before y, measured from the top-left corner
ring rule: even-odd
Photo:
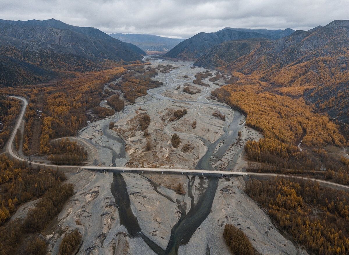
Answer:
[[[246,192],[314,254],[349,254],[348,192],[281,178],[249,180]]]

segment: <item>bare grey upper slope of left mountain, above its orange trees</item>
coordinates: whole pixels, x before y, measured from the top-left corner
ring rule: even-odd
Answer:
[[[1,45],[11,44],[20,49],[50,50],[88,59],[135,61],[144,52],[121,42],[95,28],[80,28],[54,19],[46,21],[0,20]],[[15,45],[13,45],[15,44]]]

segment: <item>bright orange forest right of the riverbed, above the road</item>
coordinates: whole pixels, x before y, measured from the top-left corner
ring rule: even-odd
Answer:
[[[349,184],[347,167],[323,149],[347,145],[339,125],[316,113],[303,98],[273,92],[273,86],[260,82],[258,76],[232,75],[236,82],[217,88],[212,95],[242,111],[246,125],[262,132],[262,139],[247,141],[245,146],[249,160],[265,164],[257,170],[301,173],[325,168],[328,179]],[[298,147],[301,141],[303,150]]]

